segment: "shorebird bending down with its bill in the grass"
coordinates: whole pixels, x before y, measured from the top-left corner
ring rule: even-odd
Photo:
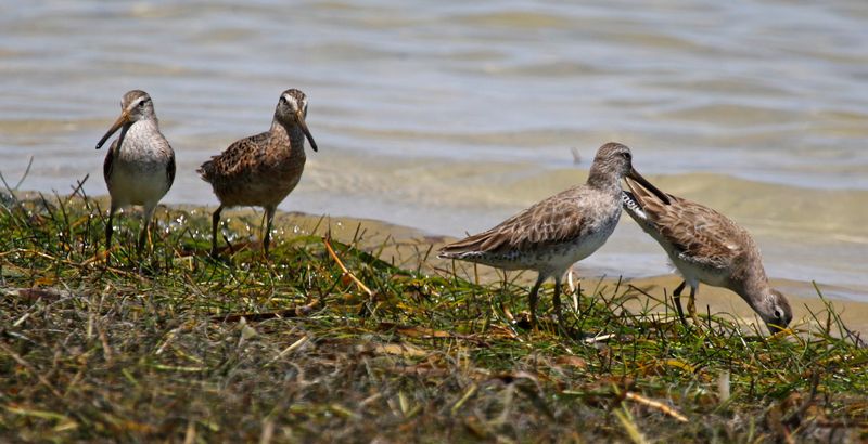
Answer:
[[[760,315],[771,334],[793,318],[790,303],[768,285],[760,248],[751,234],[726,216],[694,201],[649,193],[643,183],[627,180],[623,193],[627,213],[666,251],[684,277],[673,292],[678,317],[685,325],[681,291],[690,286],[688,312],[697,322],[694,298],[700,283],[728,288]],[[644,186],[644,187],[643,187]]]

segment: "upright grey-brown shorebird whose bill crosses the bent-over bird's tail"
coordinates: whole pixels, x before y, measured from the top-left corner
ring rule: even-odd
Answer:
[[[630,177],[655,190],[633,168],[630,149],[607,143],[597,151],[584,185],[548,197],[484,233],[449,244],[438,257],[502,270],[539,273],[531,289],[531,324],[536,326],[539,286],[554,278],[553,305],[561,316],[561,279],[570,266],[599,249],[621,218],[621,179]],[[666,199],[660,193],[661,199]]]

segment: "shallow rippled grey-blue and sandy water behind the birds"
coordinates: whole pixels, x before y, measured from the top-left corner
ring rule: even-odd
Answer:
[[[177,153],[166,201],[213,204],[193,170],[296,87],[320,152],[283,209],[476,232],[617,140],[749,227],[770,275],[868,301],[868,3],[442,3],[5,2],[0,172],[35,156],[23,188],[104,194],[93,145],[139,88]],[[667,267],[625,218],[579,270]]]

